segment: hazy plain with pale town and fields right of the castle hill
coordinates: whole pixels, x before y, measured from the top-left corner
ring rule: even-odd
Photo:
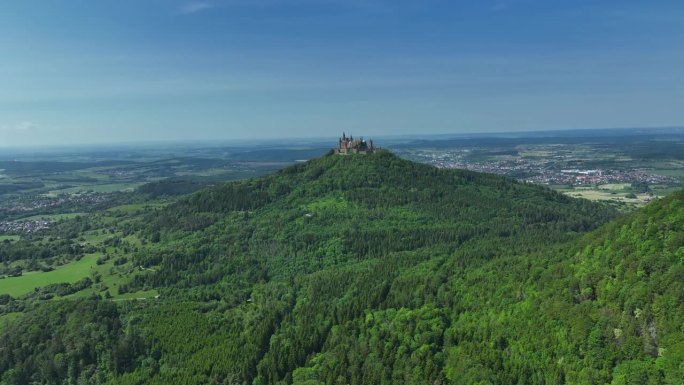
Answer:
[[[644,151],[643,141],[632,138],[615,145],[589,139],[553,140],[533,144],[500,139],[423,142],[414,147],[397,146],[393,151],[439,168],[504,175],[627,211],[684,186],[684,160],[671,151],[676,140],[646,142],[652,147],[648,151]]]

